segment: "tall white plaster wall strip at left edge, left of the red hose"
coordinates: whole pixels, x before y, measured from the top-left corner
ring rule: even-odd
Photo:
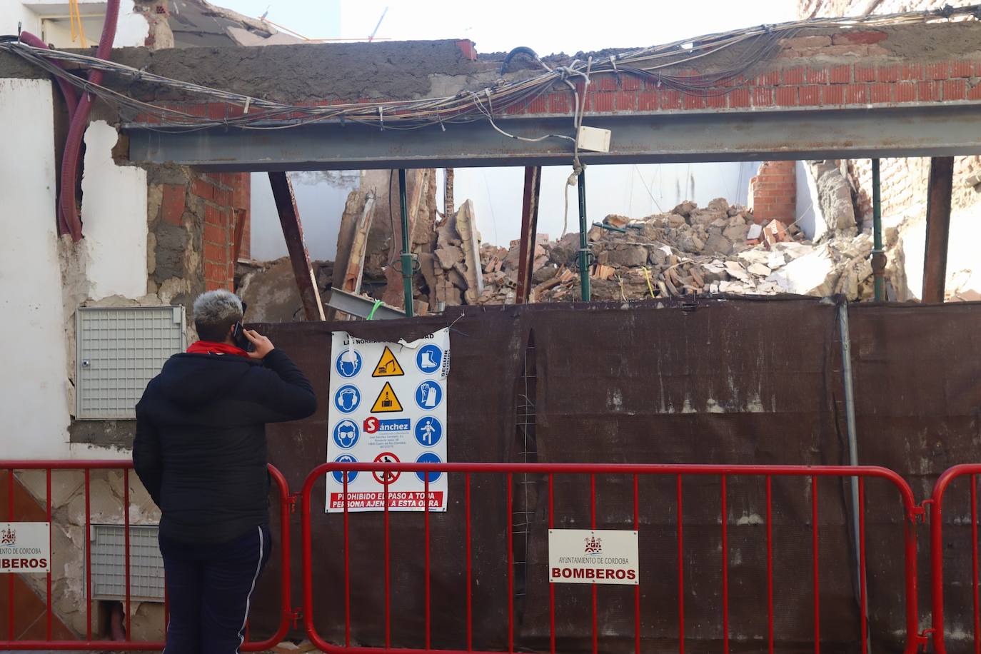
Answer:
[[[0,157],[4,458],[69,454],[52,98],[47,79],[0,78],[0,142],[7,153]]]

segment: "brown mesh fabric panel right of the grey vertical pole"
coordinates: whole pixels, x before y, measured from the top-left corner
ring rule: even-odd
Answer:
[[[917,499],[925,499],[945,470],[981,461],[981,303],[857,305],[851,323],[859,460],[895,470]],[[969,488],[967,478],[955,481],[944,501],[944,614],[952,653],[973,651],[974,645]],[[871,492],[866,500],[868,506],[881,501]],[[929,528],[924,522],[917,530],[926,629]],[[901,591],[885,570],[896,542],[869,543],[870,595]],[[874,627],[893,629],[891,611],[875,604],[869,609]]]

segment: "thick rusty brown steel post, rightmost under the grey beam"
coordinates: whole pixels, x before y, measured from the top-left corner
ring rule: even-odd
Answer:
[[[923,302],[943,302],[947,280],[947,243],[951,231],[954,157],[930,160],[926,199],[926,247],[923,256]]]

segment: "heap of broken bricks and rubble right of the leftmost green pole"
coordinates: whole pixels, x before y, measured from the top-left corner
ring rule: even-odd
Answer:
[[[420,204],[430,205],[428,199]],[[625,231],[591,229],[595,300],[713,292],[851,296],[863,292],[867,277],[864,243],[837,235],[827,247],[816,248],[796,226],[757,225],[751,212],[721,198],[704,208],[684,202],[668,214],[611,215],[603,223]],[[515,302],[520,242],[512,241],[507,249],[481,244],[476,225],[473,205],[466,202],[432,226],[428,243],[414,238],[420,266],[413,278],[415,300],[429,311]],[[554,241],[538,235],[530,271],[532,301],[579,299],[579,247],[577,232]]]

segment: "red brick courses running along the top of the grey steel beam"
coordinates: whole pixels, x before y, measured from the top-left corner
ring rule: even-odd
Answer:
[[[941,4],[941,3],[935,3]],[[667,88],[656,79],[633,75],[596,74],[586,93],[587,114],[631,114],[753,108],[867,106],[981,99],[981,58],[976,53],[941,59],[923,48],[898,56],[885,46],[899,32],[851,29],[840,33],[810,33],[781,40],[773,61],[753,75],[718,82],[715,87],[693,95]],[[911,45],[910,50],[916,46]],[[669,75],[697,76],[704,71],[666,69]],[[577,83],[580,93],[583,82]],[[383,98],[380,98],[380,100]],[[359,98],[350,98],[351,102]],[[337,100],[305,101],[300,104],[326,106]],[[569,116],[573,100],[568,88],[556,84],[531,103],[516,103],[505,115]],[[169,104],[193,116],[235,117],[243,108],[222,103]],[[284,114],[283,119],[304,115]],[[153,124],[159,119],[147,114],[136,123]]]

